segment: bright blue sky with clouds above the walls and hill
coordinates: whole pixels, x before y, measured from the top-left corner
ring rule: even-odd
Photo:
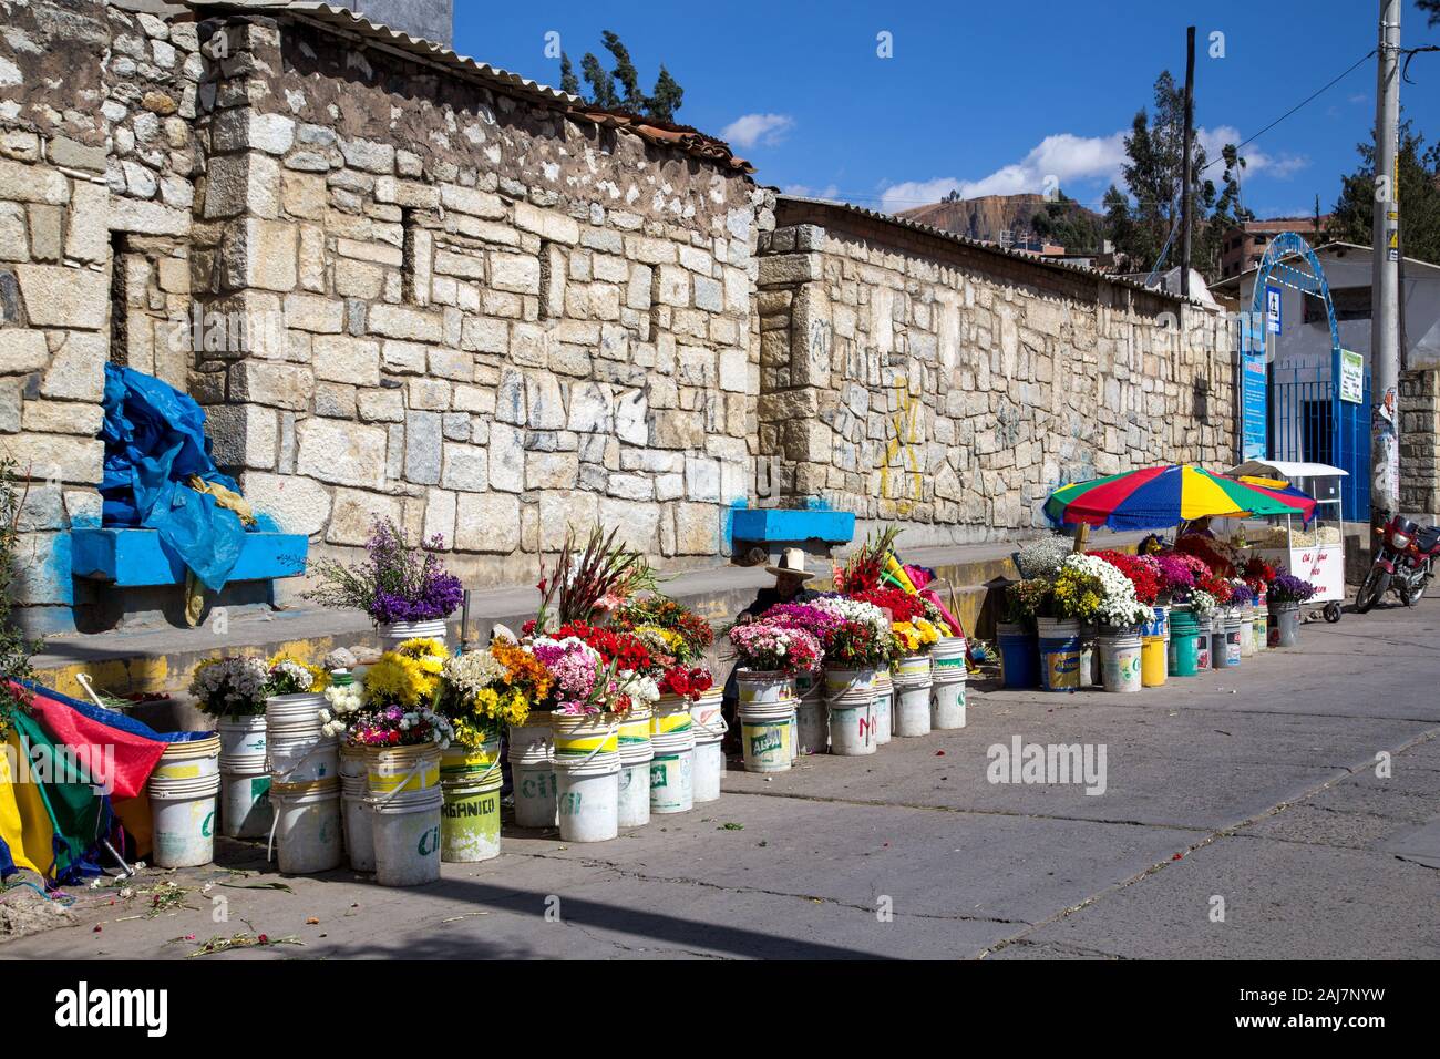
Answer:
[[[609,65],[600,30],[615,30],[642,86],[662,61],[685,89],[678,120],[729,138],[762,183],[888,210],[952,187],[1043,192],[1050,174],[1097,207],[1155,76],[1184,78],[1185,26],[1197,26],[1195,122],[1218,157],[1371,50],[1377,17],[1374,0],[599,7],[456,0],[455,50],[559,84],[546,33],[560,35],[579,72],[586,50]],[[1403,43],[1440,43],[1410,0],[1403,23]],[[891,58],[877,55],[880,33]],[[1223,58],[1210,56],[1217,45]],[[1434,141],[1440,55],[1417,56],[1411,78],[1405,114]],[[1261,218],[1308,215],[1319,193],[1329,209],[1374,108],[1369,59],[1244,148],[1244,205]],[[1218,180],[1220,166],[1210,171]]]

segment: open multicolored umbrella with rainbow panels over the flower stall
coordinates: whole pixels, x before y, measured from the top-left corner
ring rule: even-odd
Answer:
[[[1299,493],[1299,490],[1295,490]],[[1309,519],[1315,500],[1299,493],[1247,486],[1192,467],[1168,464],[1107,478],[1061,486],[1045,501],[1053,523],[1107,526],[1113,530],[1165,529],[1205,517],[1300,514]]]

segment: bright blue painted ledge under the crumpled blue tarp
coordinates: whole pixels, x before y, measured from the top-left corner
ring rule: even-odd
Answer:
[[[300,533],[246,533],[230,581],[298,578],[305,572],[310,539]],[[156,530],[72,529],[71,573],[109,581],[117,588],[183,585],[184,562]]]

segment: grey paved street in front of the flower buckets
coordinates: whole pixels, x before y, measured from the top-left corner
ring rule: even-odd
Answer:
[[[78,925],[0,957],[176,958],[194,942],[174,938],[253,929],[304,947],[212,958],[1433,960],[1437,687],[1440,601],[1346,614],[1308,625],[1299,650],[1135,696],[982,684],[963,730],[769,779],[732,772],[719,803],[612,843],[511,833],[500,859],[446,864],[416,890],[348,872],[288,879],[292,893],[216,888],[229,924],[199,895],[196,911],[144,919],[143,896],[88,892]],[[986,748],[1015,735],[1103,745],[1104,792],[989,782]],[[1381,751],[1388,778],[1375,775]],[[261,857],[222,853],[242,869]]]

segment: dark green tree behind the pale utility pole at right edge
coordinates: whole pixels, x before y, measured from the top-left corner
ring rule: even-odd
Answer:
[[[1440,3],[1440,0],[1437,0]],[[1355,144],[1361,167],[1341,177],[1332,210],[1332,239],[1369,246],[1375,216],[1375,138]],[[1405,256],[1440,264],[1440,144],[1426,140],[1407,120],[1400,125],[1400,225]]]

